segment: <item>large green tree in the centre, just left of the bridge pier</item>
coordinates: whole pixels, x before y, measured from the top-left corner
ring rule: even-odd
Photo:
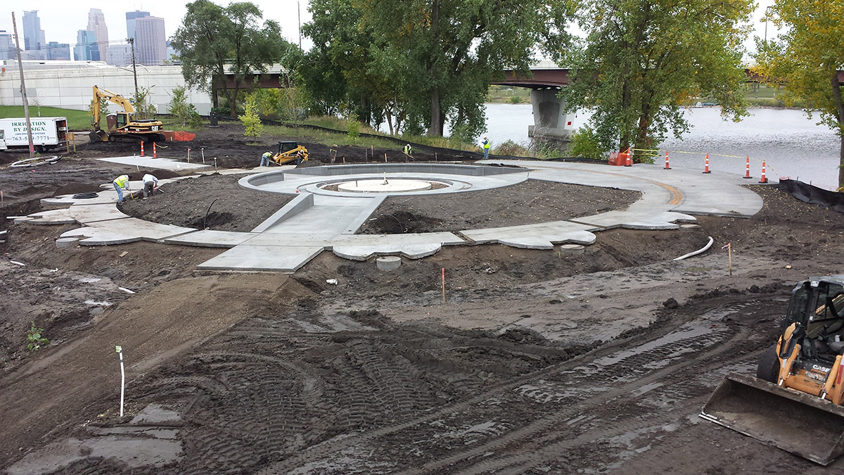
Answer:
[[[546,0],[352,0],[370,31],[367,71],[387,79],[373,96],[398,102],[409,129],[441,136],[446,119],[463,136],[484,126],[491,79],[527,71],[538,45],[555,54],[573,2]],[[393,104],[396,106],[396,104]]]

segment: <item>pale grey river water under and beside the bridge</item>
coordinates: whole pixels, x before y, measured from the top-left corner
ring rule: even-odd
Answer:
[[[664,166],[668,150],[672,168],[703,172],[708,153],[711,171],[744,176],[745,157],[749,156],[750,176],[755,178],[749,183],[758,181],[764,160],[769,180],[791,177],[821,188],[836,188],[841,141],[832,129],[817,125],[817,115],[809,119],[793,109],[754,108],[749,112],[749,117],[733,123],[722,120],[718,107],[686,109],[690,133],[660,145],[657,164]],[[494,147],[506,140],[529,144],[527,126],[533,124],[529,104],[486,104],[486,117],[486,134]],[[578,113],[572,122],[577,126],[587,119],[588,114]]]

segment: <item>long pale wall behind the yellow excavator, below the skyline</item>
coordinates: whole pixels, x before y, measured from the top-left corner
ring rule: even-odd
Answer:
[[[87,111],[94,85],[111,90],[124,97],[135,91],[132,67],[119,68],[103,62],[24,62],[26,96],[30,106],[39,101],[41,106],[62,107]],[[138,66],[138,87],[152,90],[152,102],[158,111],[169,111],[171,91],[185,85],[181,66]],[[197,107],[197,112],[207,115],[211,110],[208,93],[188,90],[187,100]],[[0,61],[0,106],[22,106],[18,63]],[[109,112],[121,110],[111,104]]]

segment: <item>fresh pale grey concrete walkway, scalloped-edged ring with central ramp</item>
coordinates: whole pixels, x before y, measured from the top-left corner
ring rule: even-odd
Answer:
[[[488,163],[502,164],[501,161]],[[435,254],[444,245],[472,243],[502,243],[518,248],[551,249],[560,243],[594,243],[594,232],[613,227],[676,229],[679,223],[695,221],[693,215],[753,216],[762,207],[762,199],[758,195],[740,186],[755,182],[720,172],[703,174],[677,168],[664,170],[647,164],[633,167],[553,161],[505,161],[503,164],[521,168],[509,168],[502,171],[500,176],[468,178],[465,171],[448,175],[444,172],[447,166],[440,165],[436,166],[436,170],[432,168],[430,173],[402,171],[400,168],[396,168],[393,173],[387,167],[380,169],[374,176],[380,177],[383,172],[389,177],[445,180],[452,184],[444,192],[417,192],[441,193],[443,199],[447,199],[447,193],[467,193],[473,189],[495,188],[526,179],[631,189],[641,192],[641,199],[627,210],[609,211],[569,221],[465,229],[459,233],[361,235],[354,232],[369,219],[387,195],[326,192],[317,184],[370,176],[370,169],[344,166],[342,170],[332,167],[303,172],[309,169],[288,168],[284,172],[276,169],[241,179],[241,184],[267,183],[268,188],[275,188],[274,192],[297,194],[293,201],[252,232],[199,231],[140,221],[116,210],[116,193],[113,189],[106,189],[93,201],[68,196],[44,199],[42,203],[45,205],[67,207],[30,215],[32,219],[29,222],[83,224],[84,227],[62,234],[62,238],[78,238],[78,242],[84,245],[129,243],[143,239],[228,248],[214,259],[199,265],[201,269],[293,272],[323,250],[333,250],[334,254],[346,259],[365,260],[374,255],[387,254],[419,259]],[[184,165],[181,164],[181,167]],[[152,167],[146,164],[143,166]],[[354,173],[355,170],[365,170],[367,173]],[[467,184],[473,183],[475,179],[480,180],[477,186]],[[132,183],[132,186],[139,187],[139,183]]]

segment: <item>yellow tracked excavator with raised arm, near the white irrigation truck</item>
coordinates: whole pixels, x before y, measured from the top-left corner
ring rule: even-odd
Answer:
[[[114,102],[123,110],[116,114],[106,115],[108,130],[100,128],[100,100]],[[111,90],[101,89],[94,86],[94,110],[91,117],[92,142],[114,142],[118,139],[127,139],[143,142],[160,142],[165,140],[164,125],[161,121],[154,119],[136,119],[135,109],[127,98],[119,96]]]

